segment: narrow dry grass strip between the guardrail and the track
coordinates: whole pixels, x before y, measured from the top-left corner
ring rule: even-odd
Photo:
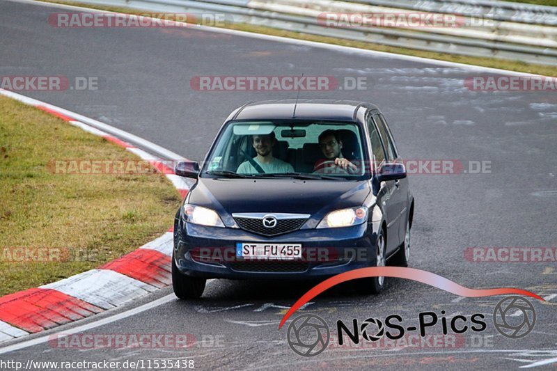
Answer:
[[[148,14],[148,11],[146,10],[136,10],[136,9],[123,8],[118,6],[101,6],[97,4],[79,3],[78,1],[58,1],[58,0],[53,0],[53,1],[40,0],[40,1],[45,1],[47,3],[60,3],[65,5],[71,5],[71,6],[81,6],[84,8],[106,10],[109,12],[127,13],[133,15]],[[251,24],[226,24],[223,28],[252,32],[252,33],[261,33],[265,35],[282,36],[285,38],[293,38],[298,40],[323,42],[326,44],[342,45],[346,47],[357,47],[360,49],[375,50],[377,52],[388,52],[393,54],[403,54],[409,56],[418,56],[423,58],[437,59],[440,61],[464,63],[467,65],[479,65],[479,66],[489,67],[489,68],[499,68],[501,70],[527,72],[532,74],[542,74],[544,76],[557,76],[557,67],[551,65],[537,65],[537,64],[525,63],[521,61],[507,61],[504,59],[496,59],[496,58],[460,56],[457,54],[425,52],[417,49],[407,49],[403,47],[390,47],[387,45],[372,44],[370,42],[351,41],[351,40],[344,40],[339,38],[329,38],[325,36],[311,35],[308,33],[299,33],[293,31],[285,31],[281,29],[274,29],[272,27],[267,27],[267,26],[254,26]]]

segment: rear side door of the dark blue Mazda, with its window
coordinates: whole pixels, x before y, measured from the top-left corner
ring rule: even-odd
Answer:
[[[398,150],[393,140],[393,135],[389,129],[389,125],[386,124],[385,118],[382,114],[375,114],[373,120],[379,128],[379,134],[382,138],[384,148],[386,149],[387,161],[402,163],[402,159],[398,155]],[[399,179],[394,181],[395,189],[391,196],[391,203],[393,203],[393,209],[397,213],[395,222],[398,226],[398,244],[402,244],[406,233],[406,219],[408,217],[408,179]]]

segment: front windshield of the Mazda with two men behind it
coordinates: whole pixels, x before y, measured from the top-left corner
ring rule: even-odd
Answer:
[[[356,180],[366,175],[356,123],[236,121],[219,136],[203,175]]]

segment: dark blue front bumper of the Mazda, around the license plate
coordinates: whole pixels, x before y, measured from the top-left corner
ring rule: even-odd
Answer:
[[[375,266],[379,223],[346,228],[300,229],[264,237],[238,228],[215,228],[175,220],[173,259],[187,276],[229,279],[312,279]],[[303,258],[289,261],[242,260],[239,242],[301,244]],[[201,253],[200,253],[201,251]]]

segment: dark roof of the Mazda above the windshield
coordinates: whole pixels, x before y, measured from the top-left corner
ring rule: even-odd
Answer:
[[[292,119],[294,106],[296,120],[356,121],[360,107],[378,109],[377,106],[352,100],[266,100],[251,102],[235,111],[229,120]]]

